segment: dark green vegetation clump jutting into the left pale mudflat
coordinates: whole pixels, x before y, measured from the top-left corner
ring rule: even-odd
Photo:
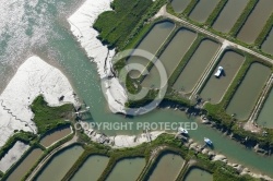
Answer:
[[[34,122],[38,128],[38,133],[44,134],[55,128],[70,124],[66,121],[72,116],[73,105],[67,104],[60,107],[49,107],[43,96],[38,96],[31,106],[34,112]]]

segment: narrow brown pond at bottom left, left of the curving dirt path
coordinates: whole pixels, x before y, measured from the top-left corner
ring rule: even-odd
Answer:
[[[41,156],[43,150],[39,148],[33,149],[27,157],[15,168],[15,170],[9,176],[8,181],[21,180],[27,171],[34,166],[38,158]]]

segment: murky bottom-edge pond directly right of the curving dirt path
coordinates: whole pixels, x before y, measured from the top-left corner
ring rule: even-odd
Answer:
[[[73,145],[71,147],[60,150],[48,161],[48,164],[44,167],[43,171],[36,180],[61,180],[82,153],[83,148],[79,145]]]

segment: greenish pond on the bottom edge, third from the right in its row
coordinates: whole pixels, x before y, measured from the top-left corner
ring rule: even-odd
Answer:
[[[145,166],[144,158],[127,158],[117,162],[107,181],[136,180]]]

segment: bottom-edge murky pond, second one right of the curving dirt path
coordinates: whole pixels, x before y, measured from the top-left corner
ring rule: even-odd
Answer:
[[[109,161],[108,157],[93,155],[83,164],[71,181],[88,180],[96,181]],[[88,179],[87,179],[88,178]]]

